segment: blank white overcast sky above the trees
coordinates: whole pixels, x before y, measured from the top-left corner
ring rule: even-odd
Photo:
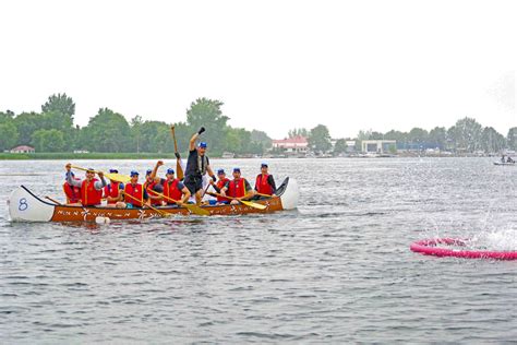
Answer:
[[[281,139],[326,124],[517,126],[517,1],[1,1],[0,110],[53,93],[85,126],[98,108],[184,121],[197,97],[229,124]]]

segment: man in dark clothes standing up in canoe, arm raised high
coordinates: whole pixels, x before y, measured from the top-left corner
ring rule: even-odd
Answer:
[[[201,200],[203,198],[203,176],[208,172],[208,176],[216,181],[214,171],[211,168],[211,163],[206,156],[206,143],[201,142],[197,147],[195,146],[195,141],[197,138],[205,131],[205,128],[202,127],[190,139],[189,143],[189,158],[187,159],[187,168],[184,171],[184,185],[191,192],[195,195],[195,203],[201,205]]]

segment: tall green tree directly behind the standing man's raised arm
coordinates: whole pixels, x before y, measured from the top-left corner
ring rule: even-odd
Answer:
[[[226,138],[227,121],[229,118],[223,115],[220,107],[223,102],[216,99],[197,98],[187,110],[187,124],[191,128],[190,135],[201,127],[206,129],[201,140],[208,142],[208,147],[215,153],[221,153],[226,146],[221,138]]]

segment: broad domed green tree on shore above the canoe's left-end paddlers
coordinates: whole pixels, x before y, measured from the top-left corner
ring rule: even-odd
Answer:
[[[83,147],[92,152],[131,152],[131,128],[125,118],[100,108],[81,131]]]

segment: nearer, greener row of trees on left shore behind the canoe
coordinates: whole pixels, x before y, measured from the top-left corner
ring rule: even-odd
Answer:
[[[53,94],[40,112],[14,114],[0,111],[0,150],[31,145],[36,152],[88,151],[99,153],[163,153],[173,152],[171,126],[180,152],[200,127],[206,128],[203,140],[213,155],[225,151],[237,154],[262,154],[272,146],[265,132],[248,131],[228,124],[219,100],[199,98],[187,110],[184,122],[147,121],[135,116],[130,121],[109,108],[100,108],[85,127],[74,126],[75,104],[67,94]]]

